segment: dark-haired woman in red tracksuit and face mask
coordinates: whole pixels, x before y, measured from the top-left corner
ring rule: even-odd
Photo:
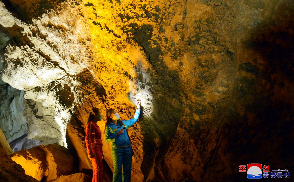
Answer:
[[[104,157],[102,150],[101,130],[96,124],[101,121],[101,111],[98,108],[93,108],[89,115],[88,123],[86,125],[86,146],[88,157],[93,166],[92,182],[103,182],[103,165],[102,159]]]

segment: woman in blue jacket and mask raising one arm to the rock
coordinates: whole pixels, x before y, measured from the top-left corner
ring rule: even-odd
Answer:
[[[135,116],[130,120],[121,121],[114,109],[106,112],[105,139],[107,143],[112,142],[113,182],[131,181],[132,147],[127,131],[128,127],[138,121],[140,105],[141,102],[137,101]]]

